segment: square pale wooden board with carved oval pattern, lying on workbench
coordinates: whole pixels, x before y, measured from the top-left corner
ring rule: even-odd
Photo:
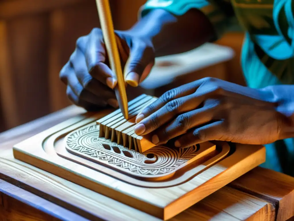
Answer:
[[[130,113],[138,108],[132,109],[132,102],[143,98],[129,102]],[[234,148],[227,143],[186,149],[153,145],[139,153],[109,135],[106,139],[107,130],[101,137],[96,121],[105,122],[119,110],[106,114],[78,116],[39,133],[15,145],[14,157],[164,220],[265,161],[262,146]],[[115,121],[105,125],[111,128]]]

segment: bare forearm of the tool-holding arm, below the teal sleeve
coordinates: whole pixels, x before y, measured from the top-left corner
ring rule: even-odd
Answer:
[[[182,16],[154,9],[126,32],[151,39],[156,57],[192,50],[215,36],[210,21],[197,9]]]

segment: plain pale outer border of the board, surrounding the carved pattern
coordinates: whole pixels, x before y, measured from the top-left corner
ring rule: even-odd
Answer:
[[[58,157],[54,150],[54,144],[57,143],[59,138],[63,138],[65,135],[71,136],[69,132],[80,127],[80,130],[84,132],[73,131],[73,137],[76,137],[74,133],[86,134],[87,128],[92,128],[92,123],[95,125],[97,118],[101,118],[105,114],[101,112],[87,118],[86,116],[78,116],[56,125],[15,145],[14,156],[16,159],[38,166],[57,176],[76,182],[88,189],[164,220],[186,210],[194,203],[199,202],[265,160],[264,147],[238,145],[232,155],[220,161],[214,161],[214,165],[209,161],[201,162],[199,166],[203,169],[197,174],[193,172],[195,169],[198,170],[197,166],[191,167],[191,169],[187,167],[189,170],[184,174],[191,177],[188,181],[177,183],[177,185],[150,189],[149,187],[140,187],[114,179],[112,174],[108,176],[99,172],[104,171],[104,169],[96,171],[88,166],[77,164],[76,161]],[[46,139],[46,142],[44,142],[44,139]],[[65,139],[68,139],[68,137]],[[41,148],[42,145],[43,148]],[[88,148],[86,147],[86,151],[88,151]],[[164,150],[168,151],[166,148]],[[205,168],[206,164],[209,164],[208,168]],[[189,174],[189,171],[191,171],[191,174]],[[193,177],[194,174],[196,174],[195,177]],[[163,180],[162,182],[164,183],[165,181]],[[168,183],[169,181],[167,180],[166,182]]]

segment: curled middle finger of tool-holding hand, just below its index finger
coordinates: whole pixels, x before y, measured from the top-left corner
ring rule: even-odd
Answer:
[[[113,90],[103,85],[103,83],[96,80],[88,73],[85,57],[78,48],[71,55],[70,61],[76,77],[83,88],[95,94],[100,100],[107,102],[108,99],[116,99]]]

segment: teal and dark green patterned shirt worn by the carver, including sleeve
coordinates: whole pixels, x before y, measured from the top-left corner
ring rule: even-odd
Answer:
[[[213,24],[216,39],[237,19],[245,31],[241,66],[248,87],[294,84],[294,0],[149,0],[139,16],[157,8],[175,15],[201,10]],[[293,141],[265,145],[262,166],[294,176]]]

